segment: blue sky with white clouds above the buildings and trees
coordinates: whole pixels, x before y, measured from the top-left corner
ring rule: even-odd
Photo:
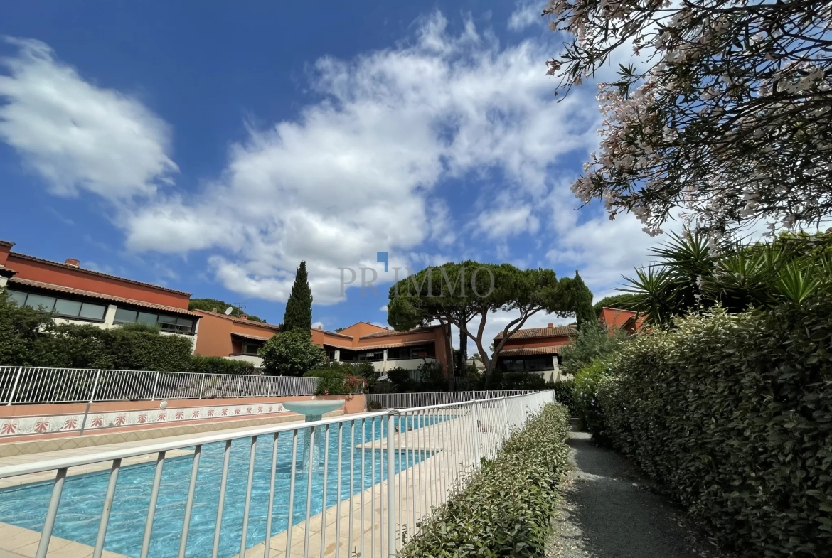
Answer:
[[[600,115],[592,86],[553,95],[543,3],[8,4],[0,239],[272,323],[305,259],[324,328],[386,323],[379,250],[610,294],[655,239],[576,211]],[[380,297],[340,298],[362,265]]]

